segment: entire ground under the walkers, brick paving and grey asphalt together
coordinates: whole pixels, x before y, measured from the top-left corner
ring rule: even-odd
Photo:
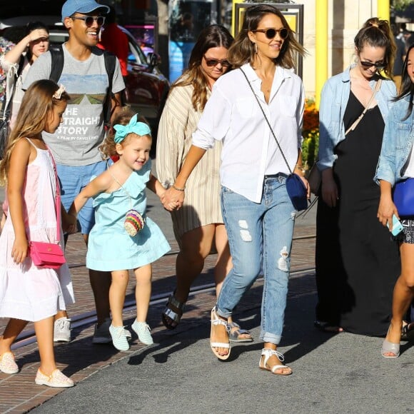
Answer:
[[[171,240],[163,211],[154,218]],[[170,233],[168,233],[170,232]],[[154,345],[143,346],[133,335],[127,352],[111,345],[92,345],[92,324],[74,329],[74,341],[56,345],[59,368],[76,387],[53,390],[34,384],[39,365],[35,345],[16,350],[21,372],[0,374],[0,413],[405,413],[412,411],[413,350],[403,343],[398,359],[380,356],[380,338],[313,328],[316,301],[313,271],[314,212],[296,223],[286,326],[281,350],[293,375],[281,378],[258,369],[261,350],[259,279],[236,309],[236,320],[251,330],[253,343],[232,345],[231,358],[221,363],[209,347],[213,291],[191,296],[176,330],[160,322],[164,303],[151,306],[148,322]],[[76,244],[77,243],[77,244]],[[69,262],[82,263],[80,238],[69,242]],[[173,245],[173,250],[175,246]],[[215,256],[209,256],[198,283],[212,280]],[[154,264],[153,293],[169,292],[174,282],[175,256]],[[302,270],[302,272],[301,272]],[[78,303],[93,309],[86,269],[73,268]],[[130,286],[130,294],[133,284]],[[71,313],[77,313],[76,307]],[[133,312],[125,314],[126,323]]]

